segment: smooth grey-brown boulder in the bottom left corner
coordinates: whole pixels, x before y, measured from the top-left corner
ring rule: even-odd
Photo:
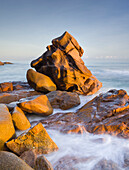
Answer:
[[[32,170],[32,168],[15,154],[0,151],[0,170]]]

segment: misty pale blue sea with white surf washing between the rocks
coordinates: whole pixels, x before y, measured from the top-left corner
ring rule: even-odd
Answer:
[[[85,103],[100,93],[107,92],[109,89],[124,89],[129,94],[129,59],[128,58],[107,58],[90,59],[83,58],[85,65],[103,83],[103,87],[94,95],[80,95],[81,104],[78,107],[58,112],[75,112]],[[13,64],[0,66],[0,83],[8,81],[26,81],[26,72],[30,68],[30,61],[12,61]],[[30,121],[40,120],[41,117],[32,116]],[[47,159],[54,166],[56,162],[67,158],[64,169],[69,169],[69,164],[74,158],[88,158],[87,161],[80,163],[74,162],[74,169],[91,170],[101,159],[114,161],[120,168],[124,164],[124,155],[129,153],[129,140],[121,139],[110,135],[84,134],[62,134],[55,130],[47,130],[51,138],[59,147],[59,151],[46,155]],[[20,134],[21,132],[19,132]],[[124,169],[124,168],[121,168]]]

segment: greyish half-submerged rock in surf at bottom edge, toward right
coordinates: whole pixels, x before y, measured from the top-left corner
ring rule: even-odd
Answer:
[[[100,160],[92,170],[120,170],[121,168],[112,160]]]

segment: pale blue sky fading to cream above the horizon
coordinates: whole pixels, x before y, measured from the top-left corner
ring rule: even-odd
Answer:
[[[129,58],[129,0],[0,0],[0,60],[32,60],[68,31],[86,58]]]

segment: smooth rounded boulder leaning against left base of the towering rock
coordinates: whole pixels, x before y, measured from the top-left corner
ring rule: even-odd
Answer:
[[[56,90],[56,85],[48,76],[38,73],[33,69],[27,71],[27,80],[29,85],[36,91],[47,93]]]

